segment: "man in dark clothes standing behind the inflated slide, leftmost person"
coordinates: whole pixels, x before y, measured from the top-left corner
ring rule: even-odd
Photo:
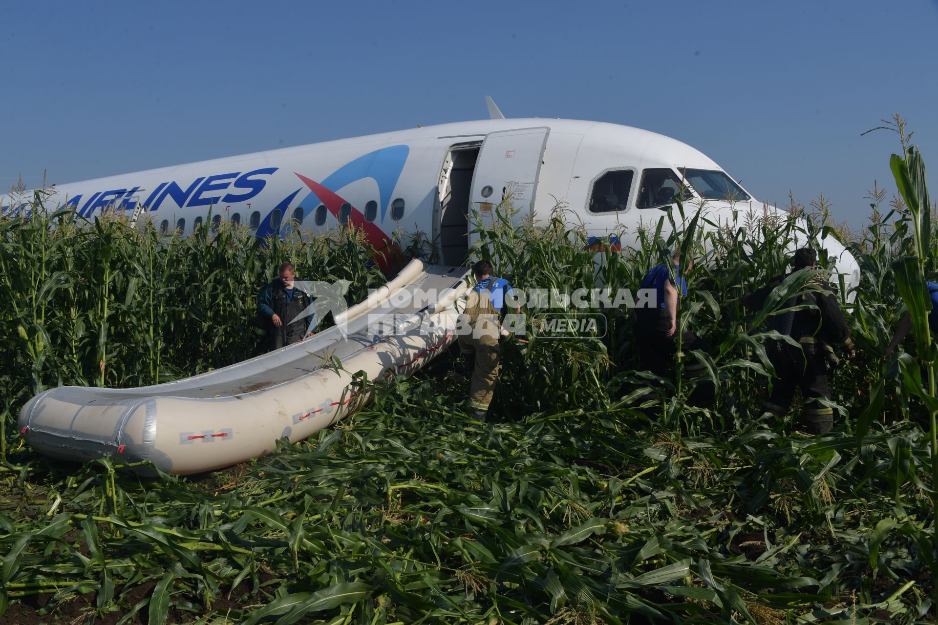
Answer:
[[[312,310],[308,317],[300,314],[310,307],[310,295],[295,285],[293,264],[284,262],[279,277],[268,284],[257,299],[257,314],[266,320],[270,350],[299,343],[313,334],[316,316]]]

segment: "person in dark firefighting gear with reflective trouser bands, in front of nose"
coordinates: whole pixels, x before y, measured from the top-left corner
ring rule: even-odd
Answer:
[[[817,252],[803,247],[794,253],[792,265],[794,272],[813,270],[817,262]],[[760,290],[743,295],[742,304],[748,308],[761,310],[769,294],[781,282],[792,274],[779,275]],[[805,401],[803,422],[809,434],[826,434],[834,426],[834,410],[825,406],[819,398],[830,399],[827,387],[827,364],[838,364],[834,348],[838,347],[848,358],[855,355],[854,344],[850,339],[850,328],[840,311],[840,304],[834,297],[830,285],[818,277],[814,286],[817,291],[809,291],[789,298],[781,308],[796,305],[813,304],[816,307],[789,311],[769,318],[769,327],[781,335],[791,336],[801,347],[799,350],[785,341],[770,340],[767,345],[769,361],[775,367],[778,379],[773,380],[772,392],[764,401],[764,408],[776,417],[783,418],[792,406],[795,387],[801,387]]]

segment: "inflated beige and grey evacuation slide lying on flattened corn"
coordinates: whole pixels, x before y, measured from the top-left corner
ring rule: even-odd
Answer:
[[[301,343],[187,379],[135,389],[59,387],[20,411],[26,441],[49,457],[113,455],[190,474],[302,440],[371,399],[353,376],[410,375],[453,340],[465,270],[413,260]],[[423,297],[420,297],[423,295]],[[340,365],[338,365],[340,364]]]

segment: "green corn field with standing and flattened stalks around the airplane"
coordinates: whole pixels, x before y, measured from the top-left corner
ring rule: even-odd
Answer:
[[[177,240],[46,216],[38,197],[33,216],[0,221],[0,619],[933,622],[938,348],[924,280],[938,242],[921,156],[902,148],[892,205],[874,194],[875,218],[844,241],[863,272],[846,308],[858,356],[832,375],[830,435],[798,431],[798,402],[784,428],[764,422],[773,310],[739,305],[785,272],[796,231],[836,235],[825,215],[704,228],[682,226],[678,203],[662,222],[674,228],[597,250],[562,207],[542,226],[506,209],[471,251],[518,287],[636,290],[669,246],[696,257],[678,321],[710,350],[677,366],[705,375],[654,380],[631,312],[596,308],[602,337],[503,343],[485,424],[467,414],[471,372],[444,356],[334,429],[188,478],[47,461],[16,415],[50,386],[139,386],[255,355],[256,294],[282,260],[350,280],[356,301],[385,276],[355,231],[256,242],[223,225]],[[885,359],[906,310],[913,335]],[[693,408],[703,381],[717,402]]]

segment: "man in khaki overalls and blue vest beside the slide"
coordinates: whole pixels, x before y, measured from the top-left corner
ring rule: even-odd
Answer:
[[[476,288],[470,291],[457,325],[462,355],[475,360],[469,408],[479,421],[485,421],[498,379],[498,338],[504,332],[499,321],[507,300],[514,296],[507,280],[493,277],[492,272],[492,263],[488,260],[479,260],[473,265]],[[516,306],[515,312],[520,313],[521,308]]]

